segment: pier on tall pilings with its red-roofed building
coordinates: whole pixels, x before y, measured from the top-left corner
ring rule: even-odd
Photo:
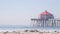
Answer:
[[[31,22],[36,27],[60,27],[60,19],[54,18],[47,10],[40,13],[38,18],[31,18]]]

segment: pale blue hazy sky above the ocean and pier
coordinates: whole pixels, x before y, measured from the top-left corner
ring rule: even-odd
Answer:
[[[30,25],[47,10],[60,17],[60,0],[0,0],[0,25]]]

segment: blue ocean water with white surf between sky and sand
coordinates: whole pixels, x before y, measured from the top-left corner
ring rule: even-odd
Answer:
[[[32,26],[21,26],[21,25],[0,25],[0,31],[14,31],[14,30],[60,31],[60,27],[32,27]]]

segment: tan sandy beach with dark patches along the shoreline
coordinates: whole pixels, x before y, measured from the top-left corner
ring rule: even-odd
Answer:
[[[0,31],[0,34],[60,34],[60,31],[16,30]]]

